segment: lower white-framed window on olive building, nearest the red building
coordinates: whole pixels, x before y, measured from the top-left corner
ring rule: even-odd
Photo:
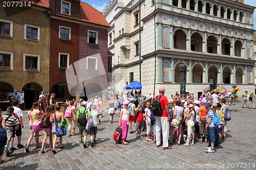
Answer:
[[[24,54],[23,57],[23,70],[40,71],[39,55]]]

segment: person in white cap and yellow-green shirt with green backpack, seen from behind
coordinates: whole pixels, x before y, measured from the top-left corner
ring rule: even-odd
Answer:
[[[86,109],[86,102],[81,103],[81,109],[79,109],[76,112],[76,125],[79,127],[79,135],[80,135],[80,143],[83,143],[83,148],[87,148],[86,145],[86,136],[87,136],[87,130],[86,130],[86,124],[85,125],[79,125],[78,122],[78,117],[80,114],[84,114],[84,117],[88,120],[89,119],[89,112]],[[82,136],[83,136],[83,141],[82,141]]]

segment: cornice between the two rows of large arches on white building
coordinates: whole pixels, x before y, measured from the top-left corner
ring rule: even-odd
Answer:
[[[154,58],[155,55],[159,57],[165,58],[177,58],[177,59],[187,59],[187,60],[199,60],[199,61],[208,61],[208,62],[220,62],[220,63],[232,63],[232,64],[243,64],[243,65],[254,65],[255,60],[253,58],[246,59],[242,57],[227,57],[226,55],[216,55],[216,54],[200,54],[200,53],[187,53],[184,52],[176,52],[176,51],[165,51],[158,50],[153,53],[146,54],[142,56],[143,60]]]

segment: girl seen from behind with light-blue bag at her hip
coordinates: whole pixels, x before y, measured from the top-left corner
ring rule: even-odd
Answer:
[[[71,102],[73,102],[73,101],[71,101]],[[52,148],[52,153],[53,154],[57,153],[55,151],[55,145],[56,145],[56,141],[57,141],[56,131],[57,131],[58,128],[61,128],[61,122],[64,123],[64,114],[62,112],[59,112],[60,106],[57,105],[55,107],[55,110],[56,111],[50,117],[50,121],[53,123],[52,132],[54,133],[53,148]],[[56,117],[55,117],[55,115],[56,115]],[[59,149],[62,149],[62,148],[64,148],[64,147],[62,146],[62,136],[61,136],[61,137],[59,137]]]

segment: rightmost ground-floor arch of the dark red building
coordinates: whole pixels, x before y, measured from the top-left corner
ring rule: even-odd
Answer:
[[[87,101],[90,98],[95,98],[96,95],[102,98],[102,88],[100,85],[96,83],[90,83],[83,88],[82,93],[80,94],[80,97],[83,100]]]

